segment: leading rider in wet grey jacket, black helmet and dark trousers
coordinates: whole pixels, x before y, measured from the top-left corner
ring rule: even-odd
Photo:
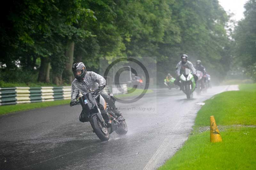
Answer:
[[[84,63],[75,63],[72,67],[72,72],[75,76],[74,81],[71,84],[71,101],[70,106],[76,104],[76,99],[78,97],[79,91],[86,95],[86,92],[89,89],[95,89],[97,86],[96,83],[99,84],[99,90],[102,90],[106,86],[106,80],[100,75],[92,71],[86,71],[86,67]],[[115,102],[116,99],[113,96],[109,96],[105,92],[100,92],[100,95],[105,99],[108,103],[109,107],[113,109],[113,112],[116,116],[121,116],[121,112],[117,110]],[[82,111],[83,112],[83,111]]]

